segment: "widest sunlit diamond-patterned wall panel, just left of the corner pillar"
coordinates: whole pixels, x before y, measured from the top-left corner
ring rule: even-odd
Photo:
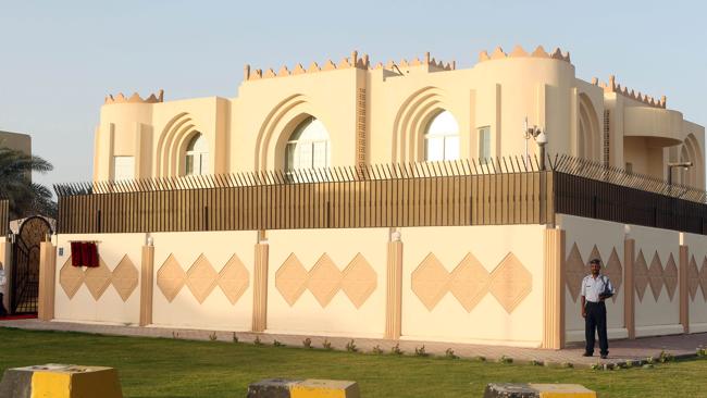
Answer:
[[[544,229],[401,228],[402,335],[538,346]]]

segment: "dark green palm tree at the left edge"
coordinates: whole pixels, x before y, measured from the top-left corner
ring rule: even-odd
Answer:
[[[0,197],[10,201],[10,220],[35,214],[57,216],[51,191],[32,182],[32,172],[47,173],[52,169],[39,157],[0,147]]]

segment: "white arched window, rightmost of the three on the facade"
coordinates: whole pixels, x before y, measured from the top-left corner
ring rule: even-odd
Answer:
[[[459,125],[449,111],[439,112],[424,134],[424,160],[459,159]]]

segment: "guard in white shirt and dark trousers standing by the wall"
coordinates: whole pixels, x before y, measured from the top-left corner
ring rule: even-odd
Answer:
[[[604,300],[613,296],[613,286],[606,275],[601,275],[601,260],[590,261],[592,274],[582,279],[582,318],[584,318],[584,336],[586,348],[584,357],[594,356],[594,333],[599,334],[599,353],[601,359],[609,355],[609,341],[606,335],[606,304]]]

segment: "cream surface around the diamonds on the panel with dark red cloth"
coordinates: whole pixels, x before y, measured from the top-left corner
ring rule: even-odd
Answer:
[[[86,284],[82,284],[73,298],[69,298],[61,286],[61,273],[71,268],[71,241],[97,240],[101,260],[111,272],[127,256],[138,270],[138,286],[126,301],[115,288],[108,286],[98,300],[91,296]],[[69,234],[57,237],[57,288],[54,316],[60,321],[107,322],[116,324],[137,324],[140,315],[139,269],[145,234]],[[59,249],[63,254],[59,256]]]

